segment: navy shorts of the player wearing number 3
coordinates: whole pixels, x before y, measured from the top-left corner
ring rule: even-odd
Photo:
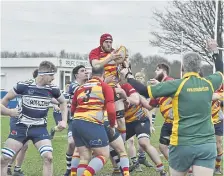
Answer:
[[[76,147],[87,148],[105,147],[109,144],[104,125],[74,119],[72,122],[72,135]]]

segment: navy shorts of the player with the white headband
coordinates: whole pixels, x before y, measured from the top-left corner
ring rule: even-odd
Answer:
[[[10,123],[10,134],[8,138],[12,138],[23,144],[28,140],[32,140],[35,144],[38,141],[49,139],[49,134],[46,125],[28,127],[24,124]]]

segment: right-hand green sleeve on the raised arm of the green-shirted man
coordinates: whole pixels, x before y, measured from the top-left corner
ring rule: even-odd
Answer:
[[[208,81],[211,82],[214,91],[218,90],[223,82],[223,74],[221,72],[216,72],[212,75],[205,77]]]

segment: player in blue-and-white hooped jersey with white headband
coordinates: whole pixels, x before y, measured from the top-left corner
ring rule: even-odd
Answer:
[[[49,61],[41,62],[36,79],[18,82],[2,99],[4,106],[7,106],[8,102],[18,95],[22,99],[21,113],[2,149],[2,176],[7,175],[8,163],[28,140],[33,141],[43,158],[43,176],[53,175],[53,148],[46,127],[47,113],[52,98],[56,98],[61,104],[62,121],[58,124],[59,130],[66,128],[67,122],[65,98],[61,95],[60,89],[52,85],[56,71],[57,69],[53,63]]]

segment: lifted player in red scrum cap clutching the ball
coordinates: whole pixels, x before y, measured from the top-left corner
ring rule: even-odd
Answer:
[[[89,61],[93,68],[104,67],[105,78],[108,76],[114,76],[113,82],[109,83],[112,88],[117,86],[119,81],[118,66],[115,62],[116,59],[120,59],[121,55],[116,53],[116,50],[112,48],[113,38],[110,34],[103,34],[100,37],[100,46],[93,49],[89,54]],[[115,93],[115,106],[118,130],[121,133],[123,140],[126,138],[125,120],[124,120],[124,103]]]

